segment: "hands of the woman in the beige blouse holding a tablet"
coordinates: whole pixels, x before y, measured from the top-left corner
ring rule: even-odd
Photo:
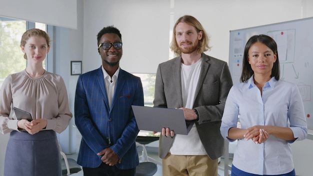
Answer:
[[[42,128],[46,127],[47,121],[43,118],[38,118],[35,120],[28,121],[26,119],[21,119],[17,121],[17,127],[25,129],[29,134],[35,134],[39,132]]]

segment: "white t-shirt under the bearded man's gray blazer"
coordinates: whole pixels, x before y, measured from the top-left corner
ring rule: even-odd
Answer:
[[[181,63],[181,90],[183,107],[192,108],[195,99],[195,88],[198,83],[202,58],[192,65]],[[176,134],[169,150],[176,155],[206,155],[198,131],[193,124],[188,135]]]

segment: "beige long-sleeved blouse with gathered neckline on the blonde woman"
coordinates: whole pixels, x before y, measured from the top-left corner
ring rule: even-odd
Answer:
[[[47,129],[58,133],[68,125],[72,114],[64,80],[60,75],[45,71],[39,78],[31,78],[25,70],[8,75],[0,89],[0,132],[17,129],[15,113],[10,116],[11,105],[23,109],[33,119],[47,119]]]

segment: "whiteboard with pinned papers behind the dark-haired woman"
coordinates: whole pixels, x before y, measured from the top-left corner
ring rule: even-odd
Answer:
[[[245,43],[255,34],[267,34],[276,41],[280,79],[298,86],[307,128],[313,129],[313,17],[230,30],[228,65],[234,84],[240,82]]]

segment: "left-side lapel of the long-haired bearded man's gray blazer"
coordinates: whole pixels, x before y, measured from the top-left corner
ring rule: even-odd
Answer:
[[[173,80],[174,80],[174,85],[175,85],[175,89],[177,90],[177,95],[176,97],[178,97],[178,103],[179,103],[179,107],[183,107],[183,103],[182,103],[182,91],[181,91],[181,74],[180,74],[180,69],[181,69],[181,57],[178,56],[175,58],[174,64],[172,66],[172,76],[173,76]]]

